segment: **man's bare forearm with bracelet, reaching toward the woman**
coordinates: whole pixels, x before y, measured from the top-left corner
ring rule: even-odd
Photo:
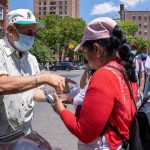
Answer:
[[[0,94],[14,94],[24,92],[38,85],[45,84],[44,75],[29,76],[29,77],[12,77],[12,76],[1,76],[0,77]]]

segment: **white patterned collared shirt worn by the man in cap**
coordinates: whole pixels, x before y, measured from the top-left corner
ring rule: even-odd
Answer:
[[[0,40],[0,76],[29,76],[38,74],[36,58],[29,52],[19,56],[7,38]],[[18,94],[0,95],[0,136],[26,129],[33,117],[35,89]]]

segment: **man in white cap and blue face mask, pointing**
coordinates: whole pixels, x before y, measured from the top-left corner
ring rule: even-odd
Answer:
[[[37,60],[28,52],[39,27],[30,10],[7,15],[7,34],[0,40],[0,138],[31,132],[33,100],[49,101],[38,86],[48,84],[59,91],[65,87],[63,77],[39,74]]]

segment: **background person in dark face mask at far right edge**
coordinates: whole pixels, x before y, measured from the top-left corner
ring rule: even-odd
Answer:
[[[148,46],[142,47],[142,53],[137,56],[137,59],[141,60],[145,69],[145,86],[144,86],[144,97],[147,96],[150,91],[150,57],[148,55]]]

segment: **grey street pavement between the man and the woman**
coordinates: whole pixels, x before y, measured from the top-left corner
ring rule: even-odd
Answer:
[[[73,79],[79,85],[83,70],[53,73]],[[72,105],[68,105],[68,109],[74,112]],[[33,130],[42,135],[51,144],[53,150],[77,150],[77,138],[66,129],[60,117],[48,103],[35,103],[32,125]]]

